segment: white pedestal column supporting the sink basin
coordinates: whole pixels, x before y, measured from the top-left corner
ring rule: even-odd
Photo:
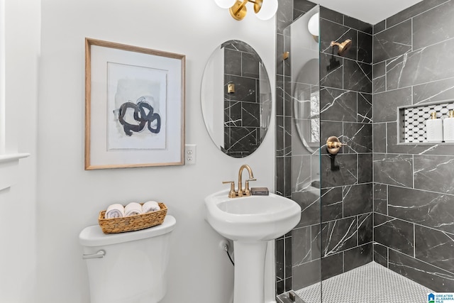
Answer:
[[[267,241],[233,241],[235,275],[233,303],[265,302],[264,277]]]

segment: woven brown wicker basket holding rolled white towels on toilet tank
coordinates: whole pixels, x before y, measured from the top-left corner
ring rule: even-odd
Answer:
[[[143,204],[143,203],[142,203]],[[121,218],[104,219],[106,211],[99,211],[99,226],[104,233],[123,233],[126,231],[139,231],[140,229],[160,225],[167,214],[167,206],[158,203],[160,211],[150,211],[146,214],[123,216]]]

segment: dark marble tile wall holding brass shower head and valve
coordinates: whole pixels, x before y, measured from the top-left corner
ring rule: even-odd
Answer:
[[[321,277],[372,261],[372,26],[320,9]],[[338,54],[331,41],[352,40]],[[326,139],[347,146],[337,155]]]

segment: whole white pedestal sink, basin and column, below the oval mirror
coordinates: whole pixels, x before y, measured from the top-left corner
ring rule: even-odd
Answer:
[[[264,303],[267,241],[297,226],[301,207],[276,194],[228,198],[228,190],[205,198],[206,221],[233,241],[233,303]]]

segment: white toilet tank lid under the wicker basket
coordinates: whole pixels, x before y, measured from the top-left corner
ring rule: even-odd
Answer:
[[[152,238],[170,233],[175,227],[176,220],[173,216],[165,216],[162,224],[145,228],[140,231],[126,233],[103,233],[99,225],[88,226],[79,233],[79,242],[82,246],[106,246],[116,243]]]

